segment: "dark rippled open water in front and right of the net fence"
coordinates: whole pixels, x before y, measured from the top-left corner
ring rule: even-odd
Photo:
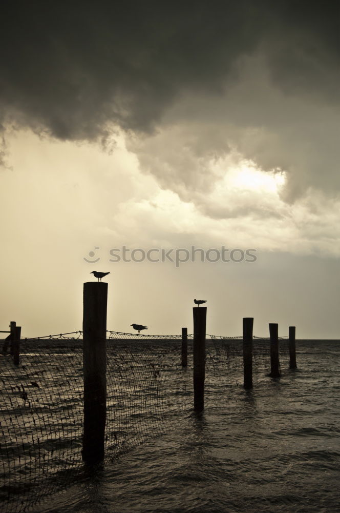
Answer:
[[[340,511],[340,342],[298,341],[298,370],[263,369],[202,415],[138,445],[35,513]],[[287,366],[286,366],[287,367]],[[176,422],[174,423],[176,425]]]

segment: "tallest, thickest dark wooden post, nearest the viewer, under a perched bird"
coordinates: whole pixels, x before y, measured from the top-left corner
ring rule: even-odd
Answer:
[[[82,459],[89,464],[104,458],[106,421],[106,338],[108,284],[84,283],[83,376],[84,424]]]

